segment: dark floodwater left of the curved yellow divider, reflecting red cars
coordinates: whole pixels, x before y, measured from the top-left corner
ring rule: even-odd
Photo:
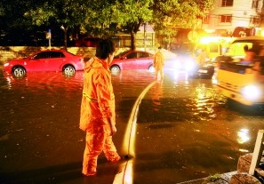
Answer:
[[[0,183],[83,182],[85,134],[78,128],[83,77],[83,72],[72,77],[38,72],[18,79],[0,73]],[[113,76],[118,150],[132,106],[152,80],[145,72]],[[94,182],[111,183],[115,171],[109,170],[101,154],[100,180]]]

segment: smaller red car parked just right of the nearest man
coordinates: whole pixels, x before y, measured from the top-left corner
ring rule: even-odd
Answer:
[[[117,73],[124,69],[148,69],[150,72],[154,72],[153,59],[154,55],[149,52],[122,52],[116,55],[110,64],[110,70],[112,73]]]

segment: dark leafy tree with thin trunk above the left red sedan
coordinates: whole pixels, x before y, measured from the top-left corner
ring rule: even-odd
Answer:
[[[85,0],[41,1],[35,8],[28,9],[24,16],[36,26],[46,24],[60,27],[64,32],[64,47],[67,48],[68,28],[80,27],[87,6],[88,2]]]

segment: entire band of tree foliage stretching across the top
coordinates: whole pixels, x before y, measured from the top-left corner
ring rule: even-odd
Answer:
[[[20,8],[18,8],[20,7]],[[63,26],[65,36],[85,33],[108,37],[117,31],[135,35],[145,23],[164,36],[172,28],[196,28],[197,18],[212,8],[212,0],[2,0],[1,27]]]

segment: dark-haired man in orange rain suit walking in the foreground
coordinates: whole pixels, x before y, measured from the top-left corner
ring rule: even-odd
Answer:
[[[108,66],[114,52],[113,42],[102,40],[96,48],[95,57],[84,67],[80,129],[86,132],[82,171],[85,176],[96,174],[97,158],[102,151],[110,162],[121,159],[112,140],[112,135],[116,133],[116,109]]]

